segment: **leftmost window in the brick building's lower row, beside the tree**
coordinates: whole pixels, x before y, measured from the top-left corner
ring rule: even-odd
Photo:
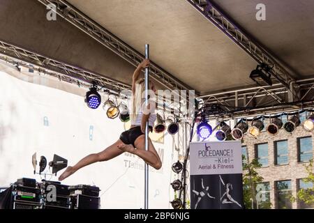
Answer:
[[[257,183],[256,185],[256,203],[257,209],[270,209],[271,201],[270,201],[270,184],[269,182]]]

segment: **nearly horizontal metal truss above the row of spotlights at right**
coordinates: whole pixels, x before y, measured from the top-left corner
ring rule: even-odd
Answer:
[[[209,118],[224,116],[225,118],[252,116],[255,114],[271,114],[276,112],[297,111],[314,106],[314,78],[302,79],[299,85],[301,99],[289,102],[288,91],[281,84],[254,87],[237,91],[202,95],[204,105],[221,105],[225,112],[211,115]]]

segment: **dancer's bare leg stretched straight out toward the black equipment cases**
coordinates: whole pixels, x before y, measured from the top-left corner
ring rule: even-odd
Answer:
[[[111,160],[114,157],[117,157],[118,155],[121,155],[121,153],[124,153],[124,151],[121,151],[118,148],[118,145],[125,145],[120,139],[118,139],[114,144],[111,146],[105,148],[104,151],[100,153],[92,153],[90,155],[87,155],[86,157],[82,158],[77,164],[75,164],[73,167],[68,167],[66,171],[61,174],[59,177],[59,180],[64,180],[68,176],[74,174],[77,170],[81,169],[82,167],[85,167],[89,164],[92,164],[94,162],[100,162],[100,161],[107,161]]]

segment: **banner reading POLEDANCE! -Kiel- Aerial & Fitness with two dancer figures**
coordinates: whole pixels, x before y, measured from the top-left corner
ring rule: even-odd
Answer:
[[[190,208],[241,209],[241,141],[190,144]]]

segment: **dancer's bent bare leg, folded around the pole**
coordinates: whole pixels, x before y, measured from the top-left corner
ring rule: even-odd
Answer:
[[[121,146],[118,146],[122,151],[128,152],[128,153],[133,153],[135,155],[138,155],[141,157],[144,162],[147,162],[147,164],[151,165],[151,167],[154,167],[155,169],[160,169],[161,168],[161,160],[156,152],[156,149],[154,148],[154,145],[151,143],[151,139],[149,139],[149,150],[145,151],[145,138],[144,134],[138,137],[134,144],[136,149],[132,145],[125,145],[122,144]]]

